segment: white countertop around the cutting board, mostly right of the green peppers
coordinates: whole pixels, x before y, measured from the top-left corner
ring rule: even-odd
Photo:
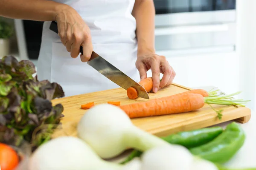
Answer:
[[[192,88],[202,88],[206,91],[211,90],[212,88],[215,88],[213,86],[207,86],[207,87],[192,87]],[[214,126],[221,126],[225,128],[229,123],[233,121],[224,122],[221,124],[217,124]],[[246,139],[244,141],[243,146],[240,148],[240,150],[236,153],[235,156],[233,156],[230,161],[225,163],[224,165],[229,168],[256,168],[256,116],[255,112],[251,111],[251,119],[249,122],[241,124],[241,127],[244,129],[246,133]],[[117,158],[111,159],[110,161],[113,162],[119,162],[125,159],[126,156],[131,153],[130,151],[123,153],[122,155],[118,156]]]

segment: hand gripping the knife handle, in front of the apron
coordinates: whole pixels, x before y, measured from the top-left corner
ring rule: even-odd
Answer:
[[[82,62],[87,62],[93,52],[90,28],[71,7],[63,9],[55,19],[58,23],[58,35],[71,57],[76,58],[80,53],[80,46],[83,46],[83,55],[80,57]]]

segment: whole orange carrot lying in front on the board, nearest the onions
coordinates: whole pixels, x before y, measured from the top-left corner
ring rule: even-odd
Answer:
[[[139,118],[195,111],[203,106],[204,97],[201,94],[180,93],[119,107],[130,118]]]

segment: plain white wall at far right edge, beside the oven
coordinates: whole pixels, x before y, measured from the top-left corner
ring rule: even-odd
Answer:
[[[242,99],[249,99],[246,106],[256,107],[256,1],[236,0],[237,51],[239,54],[239,89]]]

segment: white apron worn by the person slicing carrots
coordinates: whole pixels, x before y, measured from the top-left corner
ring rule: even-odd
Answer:
[[[136,20],[131,15],[135,0],[54,0],[72,6],[90,28],[93,50],[134,79],[140,80],[137,59]],[[73,59],[58,34],[43,26],[38,57],[38,79],[59,83],[65,96],[119,88],[90,65]]]

